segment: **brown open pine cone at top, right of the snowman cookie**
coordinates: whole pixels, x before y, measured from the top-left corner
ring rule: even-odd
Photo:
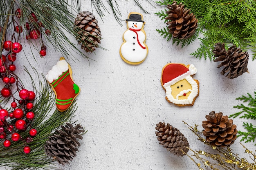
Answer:
[[[171,20],[166,23],[169,29],[168,32],[173,34],[173,38],[190,38],[198,26],[198,19],[195,18],[195,15],[189,13],[190,9],[184,9],[182,3],[177,5],[176,1],[173,1],[172,5],[168,4],[167,8],[169,9],[169,11],[166,11],[168,17],[165,19]]]

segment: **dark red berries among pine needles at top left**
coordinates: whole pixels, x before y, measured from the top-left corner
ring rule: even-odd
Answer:
[[[21,18],[23,17],[23,13],[22,10],[20,8],[15,10],[15,15],[17,16],[17,18]],[[27,40],[37,40],[39,38],[42,39],[42,34],[41,31],[43,30],[44,26],[42,24],[42,22],[39,22],[36,15],[31,12],[28,16],[27,16],[27,20],[28,22],[25,23],[25,28],[27,30],[27,35],[26,35],[26,39]],[[21,33],[23,31],[22,26],[21,25],[17,25],[15,26],[14,29],[17,33]],[[45,29],[45,34],[46,35],[50,35],[51,31],[49,29]],[[43,41],[42,41],[43,44]],[[41,46],[41,50],[39,51],[40,56],[44,57],[46,55],[46,46],[43,44]]]

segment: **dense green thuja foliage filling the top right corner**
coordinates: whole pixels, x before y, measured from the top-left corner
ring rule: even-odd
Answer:
[[[198,31],[202,33],[200,47],[191,55],[213,59],[214,44],[224,42],[236,45],[242,50],[251,49],[252,59],[256,57],[256,1],[255,0],[177,0],[195,14]],[[159,5],[172,4],[173,0],[157,1]],[[162,20],[167,16],[166,9],[156,13]],[[164,22],[167,22],[166,20]],[[164,38],[171,40],[166,28],[157,30]],[[198,35],[195,35],[198,36]],[[182,40],[187,45],[195,38]],[[177,40],[174,40],[176,42]],[[178,44],[178,43],[177,43]],[[184,46],[184,45],[183,45]],[[182,47],[183,47],[182,46]]]

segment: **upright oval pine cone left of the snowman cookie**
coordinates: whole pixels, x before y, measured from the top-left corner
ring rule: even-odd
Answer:
[[[95,16],[89,11],[80,12],[74,23],[76,40],[87,53],[99,47],[101,43],[101,29]]]

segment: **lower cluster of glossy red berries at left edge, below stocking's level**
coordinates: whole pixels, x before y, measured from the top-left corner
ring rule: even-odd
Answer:
[[[33,101],[36,95],[33,91],[22,89],[19,91],[19,97],[19,106],[15,102],[17,99],[13,97],[13,102],[11,103],[13,110],[11,112],[3,108],[0,109],[0,139],[4,139],[3,145],[5,147],[11,146],[11,140],[13,142],[21,140],[25,144],[23,150],[28,154],[30,147],[27,146],[27,144],[32,141],[37,133],[35,128],[31,128],[31,121],[34,119],[35,115],[30,111],[33,108],[33,103],[30,101]],[[15,119],[15,123],[10,124],[7,119]],[[24,139],[20,136],[19,132],[27,129],[29,129],[30,137]]]

